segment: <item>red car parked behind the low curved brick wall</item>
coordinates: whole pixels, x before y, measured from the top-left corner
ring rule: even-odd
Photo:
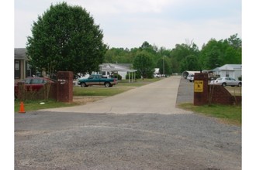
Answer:
[[[45,83],[54,83],[56,82],[56,80],[52,80],[49,78],[45,78],[45,77],[27,77],[25,80],[21,80],[18,83],[24,83],[24,86],[26,87],[26,90],[40,90],[43,85]],[[18,83],[15,84],[14,86],[14,92],[15,92],[15,96],[19,91],[19,87],[18,87]]]

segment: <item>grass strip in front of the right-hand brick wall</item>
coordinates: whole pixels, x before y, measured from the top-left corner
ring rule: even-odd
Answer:
[[[232,105],[203,105],[194,106],[191,103],[179,104],[178,107],[185,110],[192,110],[195,113],[204,114],[206,116],[220,118],[220,121],[227,124],[242,124],[242,107]]]

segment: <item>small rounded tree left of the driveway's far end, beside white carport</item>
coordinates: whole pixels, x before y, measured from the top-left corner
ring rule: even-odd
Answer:
[[[143,79],[145,77],[152,78],[154,73],[154,62],[152,55],[147,51],[141,51],[135,56],[133,61],[133,67],[136,69]]]

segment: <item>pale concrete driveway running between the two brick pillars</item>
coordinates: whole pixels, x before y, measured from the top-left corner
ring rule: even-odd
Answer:
[[[175,107],[181,76],[171,76],[91,104],[47,111],[97,114],[189,114]]]

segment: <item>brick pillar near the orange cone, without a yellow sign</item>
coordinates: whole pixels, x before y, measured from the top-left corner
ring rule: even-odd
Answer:
[[[57,72],[57,101],[73,101],[73,72]]]

